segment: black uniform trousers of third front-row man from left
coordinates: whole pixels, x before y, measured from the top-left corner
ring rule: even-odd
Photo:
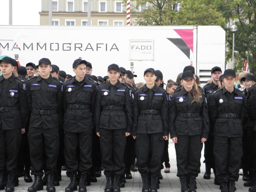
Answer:
[[[68,173],[78,172],[77,149],[79,148],[79,172],[90,174],[92,167],[92,131],[64,133],[64,154]]]

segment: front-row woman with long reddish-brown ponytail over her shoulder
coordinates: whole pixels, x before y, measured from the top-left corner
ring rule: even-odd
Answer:
[[[205,96],[197,89],[193,72],[183,72],[181,82],[181,89],[172,95],[170,137],[175,143],[181,191],[188,192],[189,186],[189,191],[195,192],[203,142],[209,134],[209,117]]]

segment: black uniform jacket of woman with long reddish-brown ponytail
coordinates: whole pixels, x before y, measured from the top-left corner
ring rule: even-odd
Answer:
[[[193,100],[193,94],[188,93],[185,88],[173,93],[169,118],[171,138],[177,135],[201,135],[201,138],[208,139],[209,116],[205,96],[200,96],[201,103],[191,103]],[[188,117],[181,117],[180,113],[188,114]],[[189,114],[197,114],[197,117],[189,117]]]

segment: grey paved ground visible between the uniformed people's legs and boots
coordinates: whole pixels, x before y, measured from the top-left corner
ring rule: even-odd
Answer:
[[[176,167],[176,156],[175,156],[175,148],[174,143],[169,140],[169,158],[170,158],[170,173],[164,173],[164,169],[162,169],[163,179],[160,180],[160,189],[159,192],[175,192],[181,191],[180,181],[179,178],[176,176],[177,174],[177,167]],[[203,174],[205,172],[205,165],[203,163],[203,150],[202,150],[202,157],[201,157],[201,173],[197,177],[197,192],[208,192],[208,191],[219,191],[219,186],[213,183],[214,181],[214,174],[212,172],[212,178],[209,180],[203,179]],[[133,179],[126,179],[126,184],[124,188],[121,188],[121,192],[140,192],[142,190],[142,181],[139,175],[139,172],[131,172],[133,175]],[[34,181],[34,177],[33,181]],[[88,192],[104,192],[104,186],[106,183],[105,176],[97,178],[98,182],[91,183],[90,186],[87,186]],[[59,182],[59,186],[56,186],[56,192],[64,192],[65,188],[69,185],[69,178],[66,176],[66,171],[62,171],[62,180]],[[243,186],[244,181],[242,180],[242,176],[240,176],[239,181],[236,182],[236,192],[248,191],[249,187]],[[19,186],[15,187],[16,192],[25,192],[27,191],[28,187],[30,187],[33,183],[25,183],[23,177],[19,178]],[[3,192],[4,190],[0,190]],[[44,190],[46,191],[46,186],[44,186]],[[77,190],[78,192],[78,190]]]

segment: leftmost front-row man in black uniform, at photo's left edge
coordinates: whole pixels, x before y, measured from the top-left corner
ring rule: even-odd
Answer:
[[[15,179],[17,158],[21,134],[25,133],[28,120],[26,85],[12,74],[14,66],[14,59],[10,57],[0,60],[3,74],[0,77],[0,190],[5,188],[6,173],[6,192],[14,191],[14,186],[19,185],[19,181]]]

